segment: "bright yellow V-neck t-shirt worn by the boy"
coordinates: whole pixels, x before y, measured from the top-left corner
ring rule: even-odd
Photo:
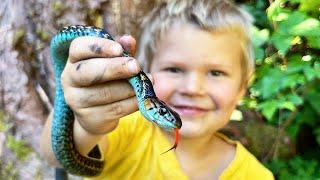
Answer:
[[[236,145],[235,158],[221,174],[220,180],[274,179],[272,173],[239,142],[220,136],[226,142]],[[173,142],[169,142],[161,130],[145,120],[140,112],[122,118],[107,138],[104,170],[101,175],[91,179],[188,179],[174,151],[160,155]]]

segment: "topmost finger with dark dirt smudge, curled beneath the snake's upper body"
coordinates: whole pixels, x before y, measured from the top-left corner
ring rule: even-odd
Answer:
[[[69,61],[77,61],[97,57],[117,57],[123,53],[122,46],[115,41],[98,37],[78,37],[69,48]]]

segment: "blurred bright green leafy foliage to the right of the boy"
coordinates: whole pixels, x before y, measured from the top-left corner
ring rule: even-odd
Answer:
[[[270,2],[245,5],[256,19],[256,73],[244,106],[260,112],[268,124],[297,142],[300,156],[290,160],[273,156],[269,165],[274,174],[279,179],[317,179],[320,160],[310,160],[306,152],[320,151],[320,1]],[[311,131],[306,132],[306,126]],[[304,133],[312,138],[299,141]]]

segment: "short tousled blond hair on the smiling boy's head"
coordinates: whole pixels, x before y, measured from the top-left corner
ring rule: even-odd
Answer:
[[[243,80],[254,72],[251,45],[252,16],[228,0],[168,0],[160,2],[142,22],[137,59],[146,72],[157,42],[175,22],[191,23],[207,31],[231,31],[239,35],[243,48]]]

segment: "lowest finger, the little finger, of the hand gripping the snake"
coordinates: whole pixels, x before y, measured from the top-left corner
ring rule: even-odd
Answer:
[[[112,131],[109,123],[138,110],[135,97],[102,106],[81,108],[75,112],[81,126],[92,134],[105,134]]]

